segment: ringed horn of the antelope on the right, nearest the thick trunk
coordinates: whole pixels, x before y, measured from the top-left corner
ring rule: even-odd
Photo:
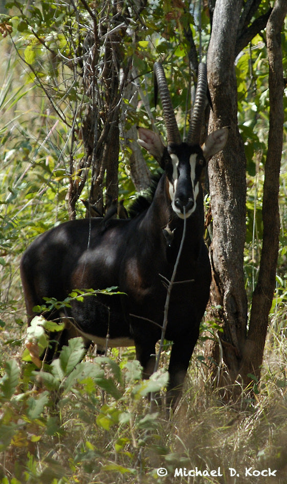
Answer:
[[[197,87],[195,93],[194,107],[189,125],[187,143],[196,144],[200,142],[203,115],[205,110],[207,92],[207,69],[203,62],[198,65]]]

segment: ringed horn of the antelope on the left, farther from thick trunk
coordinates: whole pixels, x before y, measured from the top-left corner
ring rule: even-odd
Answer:
[[[159,90],[160,98],[162,101],[163,115],[165,120],[165,126],[167,131],[167,143],[181,144],[181,135],[179,132],[178,124],[176,123],[175,114],[172,108],[170,94],[167,87],[166,77],[160,62],[155,62],[153,66],[154,72],[154,91]]]

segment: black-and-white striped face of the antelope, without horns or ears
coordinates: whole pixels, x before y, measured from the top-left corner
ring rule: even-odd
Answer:
[[[168,193],[173,212],[184,219],[196,209],[196,199],[201,190],[201,174],[205,158],[200,146],[169,145],[165,170]]]

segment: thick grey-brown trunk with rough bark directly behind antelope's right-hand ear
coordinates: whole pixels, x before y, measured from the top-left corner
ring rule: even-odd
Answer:
[[[247,326],[243,254],[246,234],[246,159],[237,127],[234,68],[236,35],[242,2],[217,0],[208,50],[208,83],[213,117],[210,130],[230,126],[228,143],[208,167],[213,215],[211,263],[213,316],[223,321],[224,361],[234,382],[244,351]],[[213,355],[214,356],[214,355]]]

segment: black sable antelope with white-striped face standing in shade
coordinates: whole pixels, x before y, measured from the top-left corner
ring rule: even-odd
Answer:
[[[206,68],[200,65],[195,104],[186,142],[181,141],[164,70],[158,62],[154,74],[163,106],[167,146],[158,134],[139,128],[139,143],[164,170],[150,206],[130,219],[109,219],[105,229],[97,218],[73,220],[37,237],[21,259],[20,270],[31,322],[33,307],[43,298],[63,300],[74,289],[117,286],[122,293],[99,294],[74,301],[71,308],[46,314],[63,318],[67,325],[58,348],[82,335],[100,347],[136,347],[147,378],[154,369],[155,345],[161,337],[166,287],[182,239],[186,235],[171,290],[166,339],[173,342],[169,362],[167,399],[173,406],[181,393],[200,321],[209,298],[211,270],[203,240],[204,207],[201,173],[206,160],[220,151],[228,128],[199,138],[207,89]],[[172,233],[170,246],[163,230]],[[169,249],[167,254],[167,249]],[[52,358],[51,345],[47,359]]]

